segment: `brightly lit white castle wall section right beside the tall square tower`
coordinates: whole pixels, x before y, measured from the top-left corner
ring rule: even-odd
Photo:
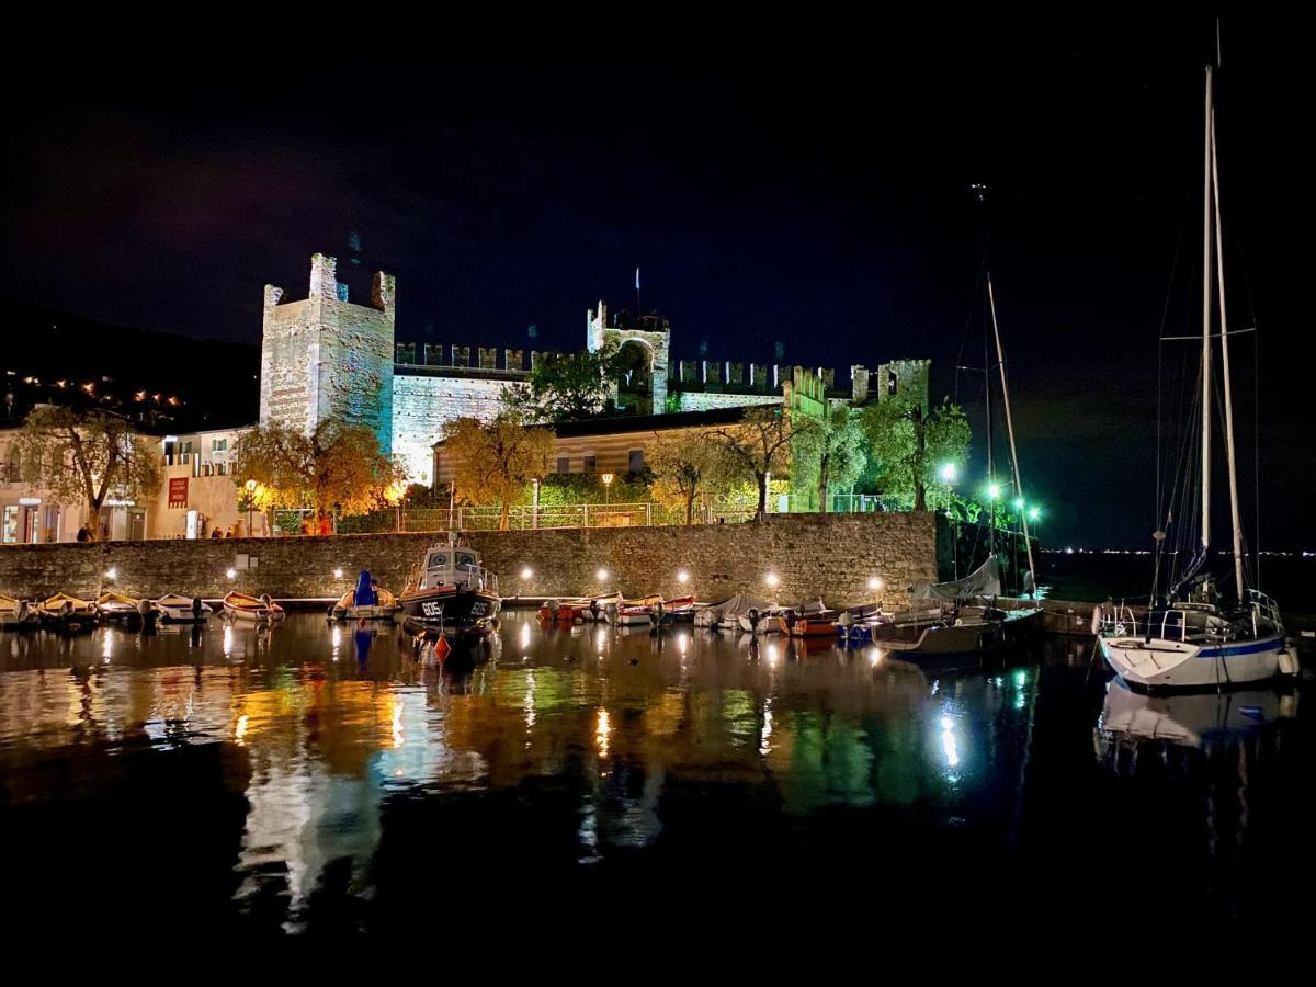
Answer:
[[[454,418],[491,421],[503,411],[503,391],[517,384],[466,376],[393,376],[393,455],[416,483],[429,484],[434,442]]]

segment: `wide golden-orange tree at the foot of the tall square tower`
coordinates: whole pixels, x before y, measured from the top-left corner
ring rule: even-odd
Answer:
[[[375,430],[324,418],[307,436],[283,425],[259,425],[238,440],[234,482],[255,480],[254,501],[271,508],[313,508],[363,515],[395,503],[401,470],[379,450]]]

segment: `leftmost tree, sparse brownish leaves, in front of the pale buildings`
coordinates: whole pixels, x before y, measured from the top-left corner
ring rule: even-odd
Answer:
[[[29,482],[86,504],[92,532],[108,497],[154,497],[161,486],[159,449],[117,415],[45,405],[28,415],[17,442]]]

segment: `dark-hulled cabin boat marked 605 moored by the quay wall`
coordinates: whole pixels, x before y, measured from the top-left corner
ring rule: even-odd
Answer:
[[[455,533],[426,549],[399,601],[409,628],[454,638],[490,633],[503,607],[497,576]]]

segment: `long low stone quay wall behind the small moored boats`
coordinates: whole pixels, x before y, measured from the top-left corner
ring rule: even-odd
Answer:
[[[719,600],[737,592],[796,603],[821,595],[830,604],[871,600],[869,579],[890,605],[905,587],[937,575],[937,521],[932,513],[782,515],[762,524],[695,528],[595,528],[471,532],[484,563],[501,575],[507,596],[632,596],[695,592]],[[104,542],[0,546],[0,590],[21,597],[57,591],[92,595],[111,582],[130,594],[229,590],[275,597],[324,597],[350,588],[368,569],[380,586],[401,590],[432,534],[354,534],[325,538]],[[230,580],[228,569],[236,569]],[[334,576],[341,569],[342,576]],[[529,569],[532,575],[522,579]],[[601,576],[600,570],[607,575]],[[690,574],[688,583],[678,572]],[[766,584],[769,572],[780,586]]]

